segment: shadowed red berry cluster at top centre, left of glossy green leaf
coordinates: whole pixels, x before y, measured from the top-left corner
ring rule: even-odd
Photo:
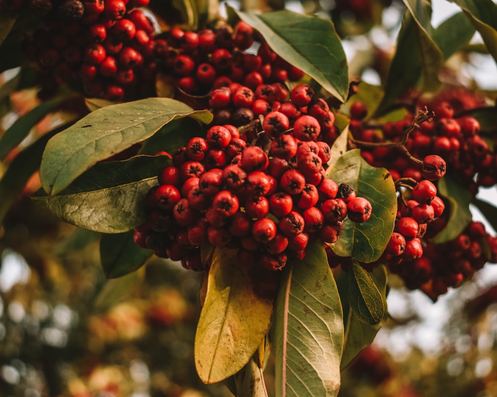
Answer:
[[[260,44],[257,54],[244,52],[256,40]],[[174,76],[177,86],[191,95],[205,95],[233,82],[255,90],[263,83],[298,81],[304,76],[263,41],[241,21],[234,28],[224,25],[198,33],[173,28],[167,41],[158,39],[157,44],[163,51],[161,64],[166,74]]]

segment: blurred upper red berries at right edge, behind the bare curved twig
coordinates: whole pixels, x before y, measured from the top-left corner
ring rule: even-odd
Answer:
[[[430,109],[433,109],[435,118],[422,123],[420,129],[408,137],[405,147],[409,152],[416,158],[425,158],[425,161],[426,156],[429,156],[431,163],[438,169],[440,156],[443,157],[442,168],[446,160],[454,175],[474,194],[479,186],[494,186],[497,181],[497,154],[480,136],[478,120],[468,115],[458,117],[446,101],[433,103]],[[398,141],[413,121],[413,115],[409,115],[399,122],[386,123],[382,134],[379,134],[361,122],[366,113],[367,109],[361,102],[355,102],[350,107],[350,129],[356,139],[365,142]],[[433,180],[423,170],[413,167],[408,158],[399,156],[396,147],[364,147],[361,154],[371,165],[389,169],[394,180],[401,177],[416,181],[423,177]]]

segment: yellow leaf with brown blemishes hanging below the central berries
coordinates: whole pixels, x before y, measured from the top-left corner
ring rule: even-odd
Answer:
[[[236,374],[257,350],[269,329],[276,275],[241,266],[236,250],[216,247],[195,335],[195,365],[203,382]]]

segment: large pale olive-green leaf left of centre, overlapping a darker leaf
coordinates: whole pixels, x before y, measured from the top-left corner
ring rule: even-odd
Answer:
[[[208,111],[193,111],[170,98],[148,98],[110,105],[91,112],[50,139],[43,154],[43,189],[56,195],[84,171],[133,144],[154,135],[167,123],[185,116],[210,123]]]

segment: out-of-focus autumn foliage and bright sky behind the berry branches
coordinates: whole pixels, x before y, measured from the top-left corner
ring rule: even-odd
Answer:
[[[232,5],[289,7],[330,17],[348,50],[351,76],[372,84],[386,79],[404,12],[399,0]],[[495,100],[495,64],[490,77],[481,73],[487,57],[473,40],[448,60],[441,78]],[[494,85],[488,84],[492,76]],[[0,78],[8,80],[8,73]],[[2,101],[0,134],[39,102],[36,94],[23,90],[9,95],[7,105]],[[25,143],[67,117],[47,116]],[[0,164],[0,175],[14,155]],[[33,203],[28,196],[39,186],[35,174],[0,229],[0,394],[231,396],[222,384],[202,384],[195,371],[202,275],[152,258],[132,274],[105,279],[99,235],[65,224]],[[490,276],[451,291],[434,312],[427,298],[392,279],[391,318],[375,343],[344,370],[339,396],[497,396],[497,279],[495,271],[485,274]],[[426,312],[435,314],[423,317]],[[271,379],[269,362],[265,382],[273,395]]]

